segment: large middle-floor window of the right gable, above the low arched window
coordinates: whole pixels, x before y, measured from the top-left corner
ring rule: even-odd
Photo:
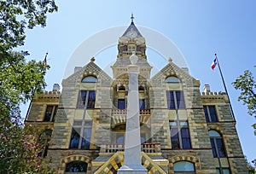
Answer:
[[[172,148],[191,148],[187,121],[170,121]]]

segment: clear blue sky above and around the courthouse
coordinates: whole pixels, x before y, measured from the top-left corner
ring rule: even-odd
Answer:
[[[56,3],[59,12],[48,15],[45,28],[28,30],[26,45],[22,48],[30,51],[29,59],[38,61],[44,60],[45,53],[49,52],[48,63],[51,68],[46,75],[49,84],[46,90],[51,90],[52,84],[61,84],[67,63],[80,44],[96,32],[116,26],[129,26],[133,13],[136,26],[160,32],[176,44],[187,62],[190,74],[200,79],[201,90],[204,84],[210,84],[212,91],[224,91],[218,69],[212,71],[210,67],[214,54],[218,54],[236,115],[236,128],[243,152],[247,159],[256,158],[256,136],[251,126],[255,119],[247,114],[247,107],[242,102],[237,102],[240,93],[231,85],[246,69],[250,69],[254,76],[256,74],[256,68],[253,67],[256,65],[256,1],[76,0]],[[90,57],[95,56],[96,63],[113,62],[117,47],[110,46]],[[154,49],[148,48],[147,55],[148,60],[160,61],[160,66],[168,62]],[[84,63],[80,66],[88,63],[90,57],[84,57]],[[102,68],[105,67],[103,65]],[[25,115],[26,107],[22,108],[22,114]]]

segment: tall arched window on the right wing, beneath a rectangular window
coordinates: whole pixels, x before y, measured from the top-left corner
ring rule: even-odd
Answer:
[[[218,131],[209,131],[212,145],[212,154],[214,158],[226,157],[224,143]]]

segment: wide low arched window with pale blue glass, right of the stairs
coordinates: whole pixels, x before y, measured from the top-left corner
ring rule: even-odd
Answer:
[[[189,161],[179,161],[173,165],[174,173],[195,173],[195,165]]]

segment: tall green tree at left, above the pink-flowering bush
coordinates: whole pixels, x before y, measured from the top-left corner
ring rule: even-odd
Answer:
[[[10,117],[20,116],[20,103],[44,89],[44,63],[26,62],[29,53],[17,50],[25,43],[26,29],[46,26],[47,14],[55,11],[54,0],[0,1],[0,108]],[[5,117],[3,112],[0,117]]]

